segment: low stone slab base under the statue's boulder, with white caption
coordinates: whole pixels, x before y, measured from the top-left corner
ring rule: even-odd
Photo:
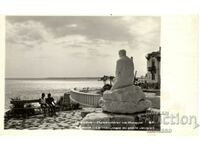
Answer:
[[[159,112],[147,111],[134,115],[112,113],[90,113],[83,118],[81,129],[84,130],[160,130]]]

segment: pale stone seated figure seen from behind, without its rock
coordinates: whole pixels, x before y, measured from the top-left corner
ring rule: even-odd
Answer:
[[[130,86],[134,79],[134,64],[132,57],[126,56],[125,50],[119,51],[120,59],[117,60],[114,84],[111,90]]]

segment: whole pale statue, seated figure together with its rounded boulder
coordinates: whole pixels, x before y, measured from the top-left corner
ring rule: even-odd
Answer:
[[[151,107],[139,86],[133,85],[134,64],[132,58],[126,56],[125,50],[119,51],[120,59],[116,65],[116,77],[111,90],[103,93],[100,105],[103,111],[113,113],[142,112]]]

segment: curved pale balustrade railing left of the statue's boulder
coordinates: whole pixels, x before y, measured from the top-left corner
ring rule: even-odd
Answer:
[[[84,106],[99,107],[100,94],[84,93],[76,90],[70,91],[70,99]]]

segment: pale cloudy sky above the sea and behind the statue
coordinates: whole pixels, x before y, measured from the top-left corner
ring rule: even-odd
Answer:
[[[7,16],[6,77],[114,75],[118,51],[133,57],[137,76],[145,55],[160,46],[158,16]]]

